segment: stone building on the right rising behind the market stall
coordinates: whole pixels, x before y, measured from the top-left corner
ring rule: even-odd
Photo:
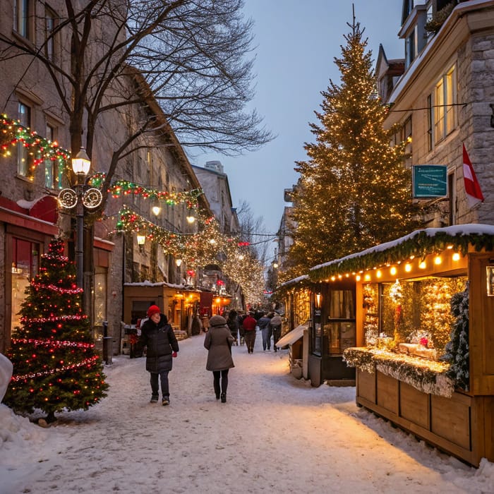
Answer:
[[[433,25],[447,3],[404,1],[404,73],[394,74],[389,95],[381,92],[391,104],[385,125],[398,123],[397,141],[406,140],[406,165],[447,165],[448,196],[435,201],[430,227],[494,220],[494,1],[459,2]],[[387,87],[380,84],[390,80],[382,55],[378,87]],[[466,198],[463,145],[483,191],[476,207]]]

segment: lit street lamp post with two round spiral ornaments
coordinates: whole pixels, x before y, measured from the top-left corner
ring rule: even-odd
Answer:
[[[89,173],[91,161],[84,147],[72,158],[72,169],[77,176],[74,188],[64,188],[59,192],[59,203],[65,209],[76,209],[76,269],[77,286],[83,288],[84,277],[84,210],[96,209],[102,202],[103,195],[97,188],[89,187],[85,178]]]

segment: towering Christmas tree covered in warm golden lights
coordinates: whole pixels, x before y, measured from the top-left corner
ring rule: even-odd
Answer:
[[[404,143],[392,146],[396,128],[385,130],[388,108],[376,92],[371,52],[354,19],[335,59],[341,85],[322,92],[320,125],[308,161],[298,162],[294,191],[291,275],[308,267],[396,239],[418,227],[411,201],[411,173],[404,168]]]

